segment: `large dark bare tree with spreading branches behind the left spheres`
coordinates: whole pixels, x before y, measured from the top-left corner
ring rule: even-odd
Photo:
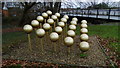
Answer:
[[[47,10],[51,10],[54,13],[59,12],[60,11],[60,7],[61,7],[61,2],[55,2],[54,6],[53,6],[53,2],[20,2],[22,4],[22,6],[24,7],[23,10],[23,16],[22,19],[19,23],[19,25],[23,25],[26,23],[30,23],[29,22],[29,15],[28,15],[28,11],[34,6],[34,5],[39,5],[39,9],[41,11],[47,11]],[[37,11],[37,10],[36,10]]]

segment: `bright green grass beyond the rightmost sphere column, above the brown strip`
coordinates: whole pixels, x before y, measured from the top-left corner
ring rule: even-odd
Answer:
[[[80,27],[77,26],[76,34],[80,35]],[[119,39],[118,25],[90,25],[88,26],[89,36],[98,35],[102,38]]]

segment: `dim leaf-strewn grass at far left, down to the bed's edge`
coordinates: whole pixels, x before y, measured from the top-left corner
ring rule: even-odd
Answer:
[[[8,32],[2,34],[2,52],[11,52],[11,48],[19,46],[21,42],[27,41],[26,34],[24,32]]]

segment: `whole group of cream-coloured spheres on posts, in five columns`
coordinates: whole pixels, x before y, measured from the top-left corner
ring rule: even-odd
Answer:
[[[69,20],[68,15],[61,16],[60,13],[55,13],[53,15],[53,13],[50,10],[48,10],[47,12],[42,13],[41,16],[37,16],[36,20],[32,20],[31,24],[24,25],[23,30],[28,34],[28,38],[29,38],[28,39],[29,48],[31,48],[32,46],[30,33],[33,30],[35,31],[37,37],[41,39],[41,41],[45,35],[47,35],[46,36],[47,39],[49,38],[51,40],[51,43],[55,43],[57,40],[59,40],[60,37],[62,37],[60,43],[64,43],[65,46],[70,48],[74,44],[74,37],[76,36],[75,31],[77,29],[78,19],[76,17],[72,18],[70,24],[68,24],[68,20]],[[89,43],[87,42],[89,39],[87,35],[88,33],[87,21],[82,20],[80,27],[81,27],[80,29],[81,42],[79,48],[81,51],[87,51],[90,48]],[[44,45],[41,44],[41,46]],[[54,46],[54,51],[56,51],[55,48],[56,46]],[[44,50],[44,48],[42,48],[41,50]]]

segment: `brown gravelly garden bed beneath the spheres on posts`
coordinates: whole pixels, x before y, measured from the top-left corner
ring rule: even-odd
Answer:
[[[32,51],[28,50],[27,42],[21,43],[18,47],[14,47],[11,52],[4,54],[3,60],[17,59],[76,66],[111,66],[105,54],[99,47],[99,44],[96,41],[96,37],[90,37],[88,41],[90,43],[90,50],[85,53],[82,53],[79,50],[79,36],[76,36],[74,39],[75,43],[71,47],[70,54],[68,54],[67,47],[63,43],[59,44],[59,40],[56,42],[57,52],[55,53],[53,51],[53,43],[50,42],[50,39],[45,41],[45,37],[43,38],[43,53],[41,51],[40,40],[36,39],[35,37],[34,39],[32,39]]]

